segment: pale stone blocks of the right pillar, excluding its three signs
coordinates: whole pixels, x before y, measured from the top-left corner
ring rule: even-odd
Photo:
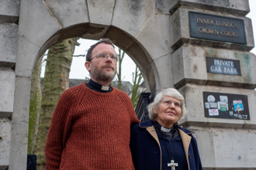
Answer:
[[[256,58],[250,53],[254,39],[251,19],[245,17],[250,11],[248,2],[177,0],[171,5],[173,83],[185,96],[189,110],[180,123],[195,131],[203,169],[254,169]],[[212,16],[241,19],[244,21],[246,42],[227,42],[225,37],[223,41],[216,41],[210,35],[207,39],[192,38],[189,12],[204,15],[204,19],[209,19],[206,28],[213,30],[216,27],[211,22]],[[202,32],[202,28],[198,31]],[[206,57],[237,59],[241,74],[209,73]],[[206,117],[204,92],[247,96],[250,120]]]

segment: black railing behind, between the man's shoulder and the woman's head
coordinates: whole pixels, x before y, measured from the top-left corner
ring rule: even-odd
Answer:
[[[140,98],[135,108],[135,113],[140,121],[149,120],[147,105],[150,104],[150,93],[140,93]]]

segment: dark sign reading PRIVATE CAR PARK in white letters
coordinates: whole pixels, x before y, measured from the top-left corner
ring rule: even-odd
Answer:
[[[206,67],[208,73],[221,73],[240,76],[240,60],[220,59],[206,56]]]

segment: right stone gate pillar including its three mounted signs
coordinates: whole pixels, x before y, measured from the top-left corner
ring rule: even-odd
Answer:
[[[202,166],[256,168],[256,57],[247,0],[171,4],[174,86],[195,131]]]

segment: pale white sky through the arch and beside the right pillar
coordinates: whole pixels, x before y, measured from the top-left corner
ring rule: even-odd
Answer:
[[[251,8],[251,12],[249,12],[246,17],[251,19],[252,25],[253,25],[253,32],[254,32],[254,44],[255,44],[255,37],[256,37],[256,0],[249,0],[249,5]],[[85,55],[87,53],[87,49],[89,49],[92,44],[94,44],[95,40],[90,39],[79,39],[78,42],[80,43],[80,46],[76,46],[74,49],[74,55]],[[117,49],[117,48],[116,48]],[[116,53],[118,53],[116,51]],[[251,53],[256,54],[256,48],[251,50]],[[135,63],[132,59],[130,59],[129,56],[125,56],[123,59],[122,64],[122,80],[123,81],[130,81],[132,83],[133,76],[132,73],[135,71]],[[42,66],[42,72],[41,77],[44,76],[45,71],[45,64]],[[85,79],[85,76],[88,78],[89,73],[88,70],[85,69],[85,57],[79,56],[79,57],[73,57],[73,61],[71,64],[71,72],[69,75],[70,79]]]

